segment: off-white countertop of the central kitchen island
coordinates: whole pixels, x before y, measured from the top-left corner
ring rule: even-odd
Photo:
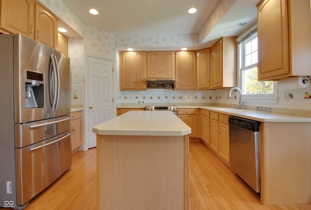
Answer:
[[[191,129],[171,111],[130,111],[93,127],[99,135],[184,136]]]

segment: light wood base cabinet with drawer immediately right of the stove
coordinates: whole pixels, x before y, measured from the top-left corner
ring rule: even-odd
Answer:
[[[196,109],[177,109],[177,116],[191,128],[189,137],[196,137]]]

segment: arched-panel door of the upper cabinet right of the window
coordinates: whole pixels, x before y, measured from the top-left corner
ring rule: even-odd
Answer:
[[[264,0],[258,6],[258,79],[290,73],[287,0]]]

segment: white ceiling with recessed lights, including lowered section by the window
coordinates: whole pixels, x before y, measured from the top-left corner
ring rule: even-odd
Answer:
[[[105,32],[172,35],[199,34],[216,6],[225,1],[228,0],[63,0],[86,25]],[[236,0],[196,48],[210,47],[221,36],[237,36],[256,23],[259,1]],[[197,8],[197,13],[188,14],[191,7]],[[92,8],[99,15],[89,14]],[[241,21],[247,24],[238,26]]]

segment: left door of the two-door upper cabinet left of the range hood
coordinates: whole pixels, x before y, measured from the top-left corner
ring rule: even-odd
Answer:
[[[120,54],[120,90],[134,89],[134,52]]]

